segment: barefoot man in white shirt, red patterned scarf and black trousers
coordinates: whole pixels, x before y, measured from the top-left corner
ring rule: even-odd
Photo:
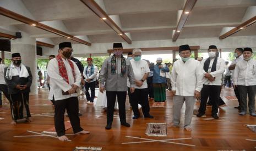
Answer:
[[[68,117],[76,134],[86,134],[80,126],[78,117],[77,89],[81,83],[81,73],[74,61],[68,58],[72,54],[69,42],[59,44],[59,54],[48,63],[47,73],[50,77],[49,99],[55,98],[55,129],[58,139],[67,141],[65,136],[64,113],[67,109]]]

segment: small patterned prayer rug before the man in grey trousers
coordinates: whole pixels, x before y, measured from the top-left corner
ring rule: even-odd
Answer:
[[[146,128],[148,136],[167,136],[166,123],[148,123]]]

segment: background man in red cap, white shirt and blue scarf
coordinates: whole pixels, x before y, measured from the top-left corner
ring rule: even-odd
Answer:
[[[85,95],[88,103],[94,103],[95,97],[95,86],[96,86],[96,74],[98,72],[97,66],[93,65],[92,58],[87,58],[88,66],[84,67],[84,78],[85,78]],[[91,89],[91,95],[89,94],[89,88]]]

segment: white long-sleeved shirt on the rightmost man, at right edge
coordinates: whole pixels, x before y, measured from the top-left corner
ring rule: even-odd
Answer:
[[[233,72],[234,85],[256,85],[256,60],[239,61]]]

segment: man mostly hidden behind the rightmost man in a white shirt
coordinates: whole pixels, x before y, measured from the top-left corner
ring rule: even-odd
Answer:
[[[235,56],[236,56],[236,59],[235,60],[233,60],[232,62],[231,62],[231,65],[228,67],[228,69],[230,70],[230,71],[233,71],[234,69],[235,69],[235,67],[236,67],[236,63],[238,63],[239,61],[242,61],[243,60],[243,49],[242,48],[236,48],[235,49]],[[241,107],[240,107],[240,95],[239,95],[239,91],[238,91],[238,87],[236,86],[236,87],[234,87],[234,91],[235,91],[235,95],[236,95],[236,97],[237,97],[237,101],[238,101],[238,106],[237,107],[235,107],[235,108],[237,108],[238,110],[240,110],[241,109]]]

